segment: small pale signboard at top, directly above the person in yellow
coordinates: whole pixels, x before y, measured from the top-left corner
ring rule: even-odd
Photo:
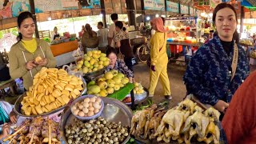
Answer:
[[[144,10],[165,10],[165,0],[144,0]]]

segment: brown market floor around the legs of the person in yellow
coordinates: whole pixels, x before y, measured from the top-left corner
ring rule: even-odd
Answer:
[[[186,96],[186,86],[183,84],[182,77],[185,73],[186,66],[178,66],[174,62],[168,64],[168,76],[170,79],[170,89],[173,99],[169,102],[169,106],[177,106]],[[250,72],[256,70],[256,66],[250,65]],[[148,88],[150,86],[150,70],[145,63],[139,63],[134,66],[135,81],[141,82],[142,86]],[[163,102],[166,99],[163,97],[162,84],[160,80],[152,98],[154,103]]]

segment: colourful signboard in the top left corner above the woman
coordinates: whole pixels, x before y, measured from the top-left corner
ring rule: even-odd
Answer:
[[[0,0],[0,19],[18,17],[27,10],[30,10],[29,0]]]

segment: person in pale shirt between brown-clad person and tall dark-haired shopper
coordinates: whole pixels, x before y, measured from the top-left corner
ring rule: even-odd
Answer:
[[[106,28],[103,28],[103,22],[98,22],[97,27],[98,27],[98,32],[97,32],[98,50],[101,50],[102,53],[105,53],[106,46],[108,45],[107,33],[109,32],[109,30],[107,30]]]

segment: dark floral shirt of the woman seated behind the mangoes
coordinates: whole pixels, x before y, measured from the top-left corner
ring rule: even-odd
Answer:
[[[106,71],[110,70],[118,70],[119,73],[126,74],[128,78],[134,78],[134,73],[126,66],[125,62],[122,62],[119,59],[117,60],[117,62],[115,62],[114,68],[112,68],[111,66],[106,67]]]

